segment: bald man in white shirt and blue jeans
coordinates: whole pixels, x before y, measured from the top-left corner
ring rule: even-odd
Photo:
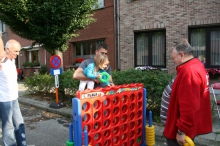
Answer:
[[[21,45],[9,40],[5,46],[5,57],[0,70],[0,118],[2,141],[5,146],[27,146],[24,120],[18,104],[18,83],[15,58]]]

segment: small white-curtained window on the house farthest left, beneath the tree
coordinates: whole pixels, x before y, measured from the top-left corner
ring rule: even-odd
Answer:
[[[39,63],[39,50],[26,51],[26,62]]]

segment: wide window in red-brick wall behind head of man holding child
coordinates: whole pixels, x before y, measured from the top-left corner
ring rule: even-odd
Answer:
[[[96,40],[75,43],[75,58],[93,58],[96,47],[103,42],[104,40]]]

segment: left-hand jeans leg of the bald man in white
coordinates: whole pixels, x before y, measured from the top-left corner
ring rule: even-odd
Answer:
[[[0,102],[2,119],[2,141],[5,146],[16,146],[14,126],[12,121],[12,102]]]

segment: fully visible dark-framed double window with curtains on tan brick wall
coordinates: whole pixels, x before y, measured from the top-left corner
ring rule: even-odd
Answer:
[[[137,32],[134,36],[135,66],[166,67],[165,31]]]

